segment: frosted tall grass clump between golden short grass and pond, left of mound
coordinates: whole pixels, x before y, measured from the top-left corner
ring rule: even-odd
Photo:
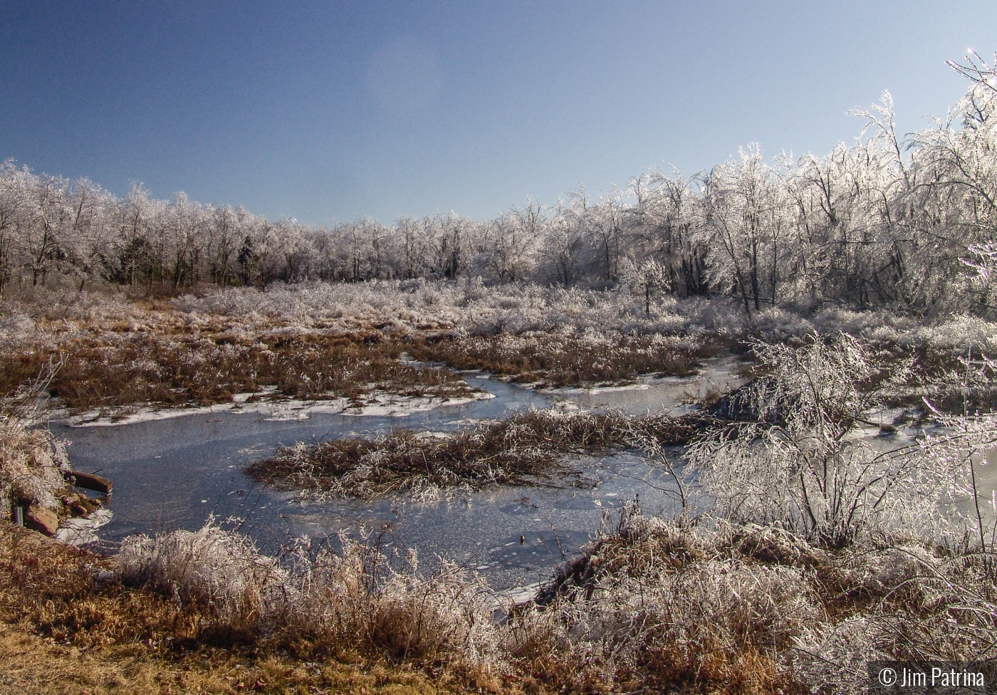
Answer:
[[[208,521],[197,531],[130,539],[116,556],[117,574],[272,648],[360,651],[396,662],[496,661],[496,602],[487,584],[449,562],[421,574],[415,551],[393,564],[375,536],[344,535],[339,545],[299,544],[282,565]]]

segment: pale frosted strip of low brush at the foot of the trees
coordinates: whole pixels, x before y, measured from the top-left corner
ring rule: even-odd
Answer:
[[[769,307],[750,318],[722,297],[665,296],[645,313],[643,298],[625,290],[562,289],[541,285],[474,282],[372,281],[359,284],[300,283],[266,289],[227,288],[184,295],[173,306],[192,316],[217,315],[243,321],[280,320],[302,326],[355,329],[380,322],[397,330],[461,330],[469,335],[522,335],[564,331],[582,335],[688,337],[684,347],[712,337],[735,341],[805,342],[818,332],[846,333],[865,343],[933,347],[951,354],[992,350],[997,323],[939,314],[915,317],[888,309],[816,311]]]

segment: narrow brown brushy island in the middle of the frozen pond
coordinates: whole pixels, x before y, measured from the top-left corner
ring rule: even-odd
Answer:
[[[568,473],[566,455],[605,454],[632,446],[641,436],[681,444],[713,422],[698,415],[529,410],[455,433],[398,430],[373,439],[281,447],[246,473],[283,490],[364,499],[398,493],[430,497],[455,488],[535,485]]]

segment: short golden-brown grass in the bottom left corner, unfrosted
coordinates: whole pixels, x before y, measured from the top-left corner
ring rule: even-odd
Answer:
[[[0,692],[498,691],[488,669],[330,658],[293,635],[234,630],[203,604],[123,584],[112,558],[0,523]],[[107,574],[101,574],[107,572]],[[106,576],[103,581],[96,577]],[[306,660],[295,647],[311,652]]]

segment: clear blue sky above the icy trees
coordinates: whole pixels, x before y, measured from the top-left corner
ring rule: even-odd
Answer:
[[[489,217],[904,131],[997,2],[0,0],[0,159],[271,218]]]

